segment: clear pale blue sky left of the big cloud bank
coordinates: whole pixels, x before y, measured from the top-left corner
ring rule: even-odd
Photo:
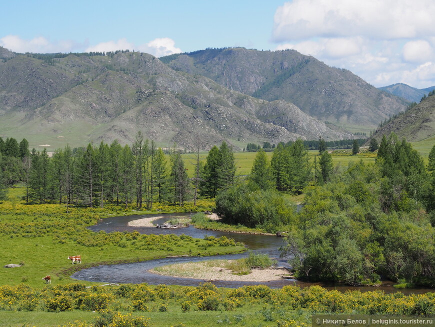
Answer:
[[[67,41],[64,46],[71,44],[73,52],[120,39],[140,47],[158,38],[173,40],[183,52],[233,46],[265,50],[275,47],[273,15],[282,4],[276,0],[126,0],[116,4],[17,0],[1,6],[7,15],[0,20],[0,38]]]

